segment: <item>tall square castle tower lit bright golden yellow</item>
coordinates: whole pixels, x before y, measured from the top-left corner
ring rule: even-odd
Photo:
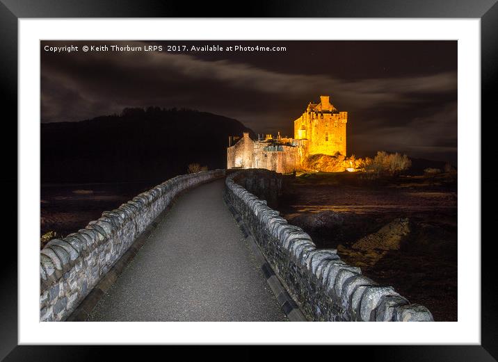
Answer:
[[[320,96],[320,103],[308,104],[305,113],[294,121],[294,138],[307,140],[307,154],[346,156],[348,113],[339,112],[330,97]]]

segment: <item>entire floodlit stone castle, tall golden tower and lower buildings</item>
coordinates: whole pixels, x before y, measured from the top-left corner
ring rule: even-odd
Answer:
[[[232,137],[227,148],[227,168],[266,168],[280,173],[299,169],[307,156],[337,153],[346,156],[347,112],[339,112],[330,97],[310,102],[303,115],[294,121],[294,138],[266,135],[251,140],[249,133]],[[233,143],[233,145],[232,145]]]

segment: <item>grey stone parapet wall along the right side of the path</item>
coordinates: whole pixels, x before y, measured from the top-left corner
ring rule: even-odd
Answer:
[[[424,306],[410,304],[391,286],[379,286],[360,268],[342,261],[335,249],[316,249],[310,236],[290,225],[234,181],[225,181],[225,199],[246,224],[273,270],[309,320],[432,321]]]

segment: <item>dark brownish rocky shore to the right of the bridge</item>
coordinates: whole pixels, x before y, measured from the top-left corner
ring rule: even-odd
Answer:
[[[278,209],[317,247],[337,248],[363,274],[427,306],[435,320],[457,320],[456,174],[288,176]]]

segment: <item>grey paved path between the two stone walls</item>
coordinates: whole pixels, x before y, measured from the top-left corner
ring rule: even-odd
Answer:
[[[178,197],[90,320],[287,320],[223,201],[224,180]]]

